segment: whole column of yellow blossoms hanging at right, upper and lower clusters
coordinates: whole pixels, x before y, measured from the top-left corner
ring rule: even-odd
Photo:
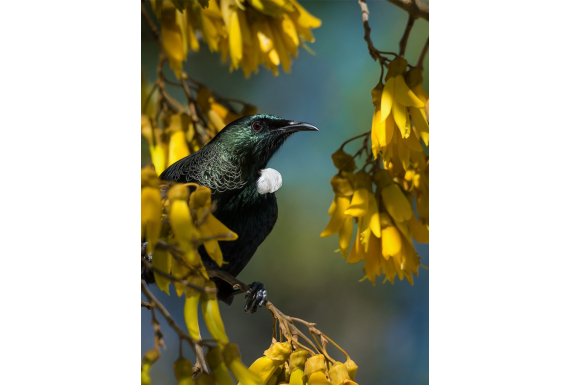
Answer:
[[[429,96],[422,82],[421,68],[408,70],[402,57],[392,60],[385,84],[380,79],[372,90],[372,130],[361,135],[362,148],[351,156],[343,145],[332,155],[338,174],[331,179],[332,217],[321,236],[338,233],[343,258],[364,261],[365,278],[373,284],[381,275],[392,283],[396,276],[406,277],[413,284],[420,258],[412,238],[429,243],[429,160],[424,152],[429,145]],[[364,152],[364,167],[355,173],[354,158]],[[357,235],[349,253],[353,223]]]

